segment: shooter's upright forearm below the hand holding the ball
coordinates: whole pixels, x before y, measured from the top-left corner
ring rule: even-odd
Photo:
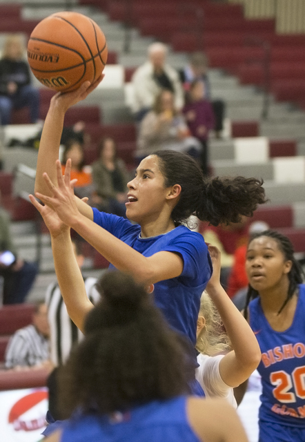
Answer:
[[[51,101],[39,143],[35,180],[35,192],[40,192],[44,195],[50,195],[50,190],[43,179],[43,173],[48,173],[52,182],[57,182],[55,162],[59,157],[64,116],[63,109]]]

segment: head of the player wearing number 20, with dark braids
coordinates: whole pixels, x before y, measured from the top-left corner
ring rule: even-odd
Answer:
[[[249,280],[246,307],[251,299],[264,296],[276,287],[286,287],[286,300],[279,313],[295,293],[297,285],[303,281],[302,268],[295,259],[293,244],[275,230],[257,232],[250,237],[246,273]],[[247,308],[245,316],[246,311]]]

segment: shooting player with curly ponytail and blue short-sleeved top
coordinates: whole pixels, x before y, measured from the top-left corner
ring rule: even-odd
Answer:
[[[97,81],[98,83],[99,81]],[[86,98],[96,86],[84,83],[72,93],[52,97],[43,126],[37,159],[35,195],[46,204],[31,201],[46,218],[52,207],[68,227],[90,242],[118,270],[146,287],[154,286],[156,304],[168,323],[196,341],[200,296],[212,272],[204,238],[190,231],[186,220],[197,215],[213,224],[237,222],[265,201],[262,182],[255,178],[205,178],[188,155],[158,151],[144,158],[128,183],[126,216],[99,213],[75,198],[68,160],[65,175],[58,160],[63,119],[67,109]],[[48,213],[46,213],[48,212]],[[54,254],[65,253],[70,239],[66,229],[52,235]],[[64,269],[59,271],[64,273]],[[79,329],[92,304],[66,291],[70,317]]]

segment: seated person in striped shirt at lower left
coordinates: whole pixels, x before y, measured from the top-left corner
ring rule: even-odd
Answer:
[[[35,306],[32,324],[17,330],[8,343],[5,355],[6,368],[50,368],[50,327],[47,306]]]

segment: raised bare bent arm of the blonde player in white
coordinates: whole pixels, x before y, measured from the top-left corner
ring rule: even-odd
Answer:
[[[252,329],[220,284],[219,250],[213,246],[209,246],[208,249],[213,262],[213,276],[206,291],[219,311],[233,347],[233,351],[220,361],[219,372],[227,385],[237,387],[257,368],[261,352]]]

